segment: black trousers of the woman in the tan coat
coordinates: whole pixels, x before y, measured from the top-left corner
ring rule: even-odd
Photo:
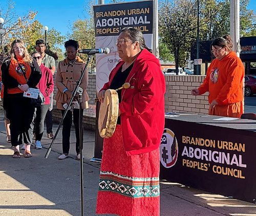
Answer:
[[[61,110],[62,116],[65,110]],[[70,110],[67,112],[66,117],[63,119],[63,128],[62,128],[62,152],[63,154],[69,154],[70,149],[70,132],[72,126],[72,113],[73,121],[75,126],[76,134],[76,153],[80,153],[80,137],[79,137],[79,109],[74,109],[73,112]]]

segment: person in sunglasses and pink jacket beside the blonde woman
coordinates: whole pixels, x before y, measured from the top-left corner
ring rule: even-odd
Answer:
[[[53,92],[54,82],[51,70],[48,67],[45,67],[44,64],[42,64],[41,54],[36,51],[32,53],[31,56],[36,60],[42,71],[42,76],[37,87],[45,97],[45,104],[36,108],[34,119],[34,131],[36,140],[35,148],[41,149],[41,138],[42,134],[44,133],[44,122],[46,113],[50,107],[50,95]]]

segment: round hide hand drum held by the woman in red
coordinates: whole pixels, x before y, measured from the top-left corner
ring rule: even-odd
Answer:
[[[110,138],[116,129],[118,117],[118,94],[114,89],[105,91],[103,103],[99,108],[98,129],[102,138]]]

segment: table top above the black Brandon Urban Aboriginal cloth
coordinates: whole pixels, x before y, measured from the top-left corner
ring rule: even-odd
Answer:
[[[256,121],[251,119],[232,119],[224,121],[224,116],[196,114],[196,113],[168,113],[165,118],[177,121],[193,122],[198,124],[206,124],[224,128],[241,129],[256,132]],[[225,117],[228,119],[227,117]],[[225,119],[224,118],[224,119]]]

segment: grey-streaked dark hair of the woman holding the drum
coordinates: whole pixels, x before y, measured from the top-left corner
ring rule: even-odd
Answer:
[[[125,27],[121,30],[121,32],[124,32],[133,43],[136,41],[139,41],[140,49],[147,49],[151,53],[153,53],[153,50],[149,49],[145,44],[145,39],[143,37],[143,34],[138,29],[132,28],[132,27]]]

